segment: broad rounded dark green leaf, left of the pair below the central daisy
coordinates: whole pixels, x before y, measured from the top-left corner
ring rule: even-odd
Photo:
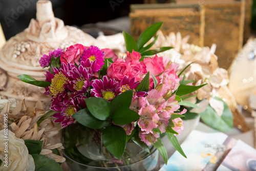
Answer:
[[[111,105],[110,102],[104,98],[91,97],[84,99],[91,114],[99,119],[106,120],[110,116]]]

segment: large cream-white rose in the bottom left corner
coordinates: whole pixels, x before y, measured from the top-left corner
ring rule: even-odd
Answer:
[[[6,138],[4,131],[5,130],[0,131],[0,159],[3,161],[2,165],[0,166],[0,170],[35,170],[34,159],[29,154],[28,148],[25,145],[24,140],[15,137],[15,134],[11,131],[8,131],[8,136]],[[5,159],[6,154],[8,154],[7,160]]]

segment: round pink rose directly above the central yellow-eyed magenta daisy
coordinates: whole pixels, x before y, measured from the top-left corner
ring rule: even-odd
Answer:
[[[131,70],[131,66],[129,65],[129,63],[125,62],[124,59],[117,59],[109,66],[106,72],[110,78],[117,78],[121,80],[124,75],[129,77]]]

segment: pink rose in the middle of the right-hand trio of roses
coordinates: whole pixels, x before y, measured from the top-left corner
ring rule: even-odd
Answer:
[[[138,60],[131,60],[129,62],[130,66],[131,66],[131,73],[129,78],[133,78],[135,77],[135,82],[139,81],[140,75],[141,74],[145,74],[146,72],[146,66],[143,62],[139,62]]]

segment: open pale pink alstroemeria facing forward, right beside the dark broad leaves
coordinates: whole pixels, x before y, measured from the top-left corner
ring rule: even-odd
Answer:
[[[154,105],[141,108],[138,114],[141,116],[138,122],[141,131],[149,133],[152,131],[152,129],[157,127],[157,122],[160,118],[156,113],[156,108]]]

